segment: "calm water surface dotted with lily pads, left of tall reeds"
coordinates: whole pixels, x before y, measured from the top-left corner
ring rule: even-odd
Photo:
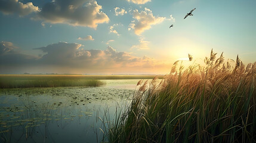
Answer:
[[[137,79],[97,88],[0,89],[0,142],[107,141],[107,119],[131,101]]]

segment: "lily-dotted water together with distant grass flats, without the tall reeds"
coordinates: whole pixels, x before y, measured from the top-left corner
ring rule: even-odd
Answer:
[[[154,77],[1,75],[1,142],[108,141],[106,116],[128,105],[138,80]]]

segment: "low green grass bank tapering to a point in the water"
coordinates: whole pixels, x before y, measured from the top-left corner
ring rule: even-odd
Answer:
[[[104,83],[81,76],[0,76],[0,88],[43,88],[64,86],[100,86]]]

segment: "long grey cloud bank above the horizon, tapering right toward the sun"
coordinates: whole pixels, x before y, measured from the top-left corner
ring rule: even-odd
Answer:
[[[40,64],[51,64],[52,66],[66,66],[85,70],[116,70],[116,68],[154,67],[158,64],[152,58],[135,57],[128,52],[118,52],[112,46],[105,50],[81,49],[79,43],[54,43],[40,49],[47,52],[41,59]],[[125,71],[125,70],[124,70]]]

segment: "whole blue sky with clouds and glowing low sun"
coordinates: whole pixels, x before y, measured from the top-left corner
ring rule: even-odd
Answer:
[[[254,63],[255,7],[254,0],[0,0],[0,74],[167,74],[188,54],[203,64],[211,49]]]

